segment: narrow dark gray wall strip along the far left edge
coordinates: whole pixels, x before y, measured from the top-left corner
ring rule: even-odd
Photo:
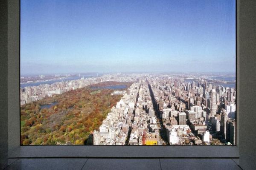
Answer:
[[[0,169],[7,165],[7,0],[0,1]]]

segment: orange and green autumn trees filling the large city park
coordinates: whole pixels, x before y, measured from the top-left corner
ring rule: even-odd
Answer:
[[[121,99],[121,95],[111,95],[112,92],[111,89],[81,88],[23,105],[20,108],[21,144],[84,144],[90,132],[99,129]],[[56,105],[41,109],[42,105],[52,102]]]

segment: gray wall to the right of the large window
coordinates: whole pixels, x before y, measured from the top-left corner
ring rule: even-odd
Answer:
[[[256,1],[240,0],[239,165],[256,169]]]

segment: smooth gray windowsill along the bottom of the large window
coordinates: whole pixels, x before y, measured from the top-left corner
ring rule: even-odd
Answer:
[[[178,152],[177,152],[178,150]],[[237,146],[20,146],[9,158],[239,158]]]

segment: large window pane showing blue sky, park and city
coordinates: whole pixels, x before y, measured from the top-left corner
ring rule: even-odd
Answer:
[[[20,0],[21,145],[236,145],[236,1]]]

